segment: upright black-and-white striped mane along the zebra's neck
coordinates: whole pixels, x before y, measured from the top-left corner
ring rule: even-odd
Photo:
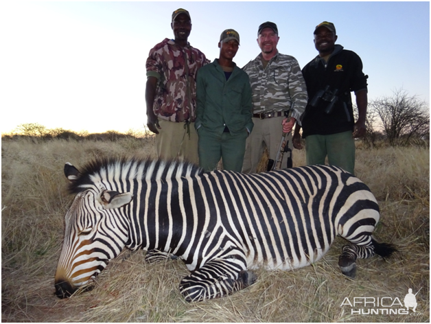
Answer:
[[[161,159],[139,158],[101,158],[89,161],[82,167],[77,178],[69,183],[70,194],[78,194],[97,181],[109,182],[109,179],[127,179],[157,181],[167,178],[200,176],[204,170],[185,161],[165,161]]]

